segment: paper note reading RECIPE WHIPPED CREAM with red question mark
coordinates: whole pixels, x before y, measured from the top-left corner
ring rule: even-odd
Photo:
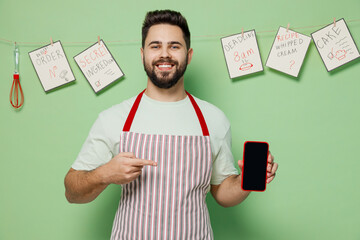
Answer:
[[[299,75],[311,37],[280,27],[266,66],[291,76]]]

